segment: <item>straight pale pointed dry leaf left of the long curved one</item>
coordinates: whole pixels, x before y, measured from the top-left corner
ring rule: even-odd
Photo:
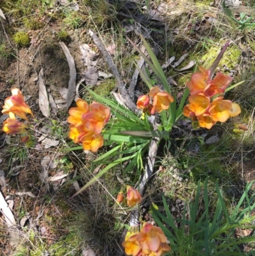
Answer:
[[[48,102],[48,94],[43,80],[43,68],[41,68],[39,74],[39,107],[43,116],[50,117],[50,104]]]

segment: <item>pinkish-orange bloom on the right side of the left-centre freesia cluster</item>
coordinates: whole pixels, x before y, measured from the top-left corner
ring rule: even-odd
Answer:
[[[93,130],[95,133],[101,133],[103,126],[105,126],[110,119],[110,109],[96,102],[90,105],[90,109],[90,112],[82,115],[84,126],[88,130]]]

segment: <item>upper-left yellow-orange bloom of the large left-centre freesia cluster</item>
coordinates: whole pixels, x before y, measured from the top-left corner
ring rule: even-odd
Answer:
[[[69,109],[68,123],[78,127],[82,124],[82,115],[89,112],[89,104],[82,99],[77,100],[77,107]]]

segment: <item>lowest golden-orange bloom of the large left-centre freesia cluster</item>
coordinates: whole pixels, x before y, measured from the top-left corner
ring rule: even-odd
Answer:
[[[99,147],[103,146],[103,136],[93,131],[87,133],[81,133],[78,137],[82,142],[84,150],[90,150],[92,152],[98,151]]]

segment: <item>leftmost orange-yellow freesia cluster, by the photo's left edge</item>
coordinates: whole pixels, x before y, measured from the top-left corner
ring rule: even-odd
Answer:
[[[33,112],[29,109],[27,103],[24,101],[24,96],[18,88],[11,89],[12,96],[4,100],[3,114],[9,114],[8,119],[4,121],[3,131],[7,134],[24,134],[27,133],[29,129],[29,124],[17,121],[16,116],[28,121],[25,113],[31,114],[33,117]],[[29,136],[23,137],[22,142],[27,142]]]

